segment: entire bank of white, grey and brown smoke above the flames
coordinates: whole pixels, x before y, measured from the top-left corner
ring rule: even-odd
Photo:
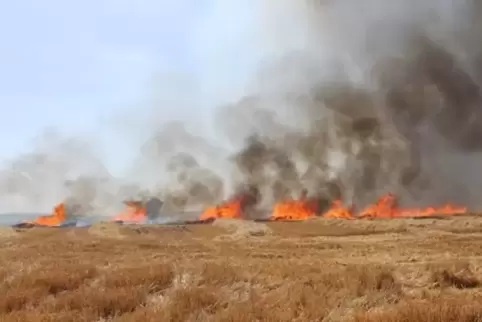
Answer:
[[[154,195],[179,210],[253,187],[260,208],[306,191],[480,207],[481,13],[468,0],[213,1],[191,33],[196,76],[169,73],[143,111],[154,121],[125,131],[148,135],[122,180],[89,145],[54,140],[0,174],[1,208]],[[184,114],[159,121],[161,106]]]

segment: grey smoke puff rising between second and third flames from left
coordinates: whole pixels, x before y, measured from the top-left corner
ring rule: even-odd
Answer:
[[[143,145],[142,155],[153,178],[149,193],[164,202],[163,211],[197,210],[223,199],[219,169],[209,167],[219,149],[190,134],[182,123],[161,128]]]

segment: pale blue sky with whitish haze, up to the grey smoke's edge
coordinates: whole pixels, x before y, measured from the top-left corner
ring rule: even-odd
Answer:
[[[241,98],[260,64],[304,48],[295,4],[0,1],[0,162],[57,129],[89,137],[117,174],[154,125],[209,132],[213,107]]]

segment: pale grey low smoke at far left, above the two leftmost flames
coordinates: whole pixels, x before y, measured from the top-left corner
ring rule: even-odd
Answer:
[[[113,177],[95,140],[47,130],[32,151],[7,160],[0,171],[0,211],[49,213],[64,202],[69,216],[113,215],[122,202],[147,194],[141,186]]]

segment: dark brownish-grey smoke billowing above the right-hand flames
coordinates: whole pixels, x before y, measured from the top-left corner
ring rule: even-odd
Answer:
[[[400,18],[390,42],[383,29],[367,27],[376,53],[369,68],[371,86],[348,81],[349,75],[335,82],[313,81],[319,68],[305,68],[308,56],[293,54],[271,63],[275,72],[262,73],[264,83],[279,83],[279,71],[293,70],[309,81],[305,88],[260,93],[225,108],[218,123],[230,124],[228,136],[242,132],[236,128],[251,133],[234,156],[241,180],[256,186],[266,204],[307,190],[357,205],[393,192],[411,205],[481,206],[468,192],[478,187],[473,174],[464,172],[464,163],[480,162],[475,154],[482,150],[482,46],[473,43],[482,35],[480,5],[464,6],[473,8],[463,11],[472,12],[463,16],[471,28],[451,32],[472,43],[458,51],[457,39],[434,34],[425,16],[416,24]],[[445,26],[443,20],[438,23]],[[376,51],[377,44],[397,41],[396,54]],[[276,102],[282,104],[270,106]],[[278,120],[283,104],[295,115],[294,125]]]

